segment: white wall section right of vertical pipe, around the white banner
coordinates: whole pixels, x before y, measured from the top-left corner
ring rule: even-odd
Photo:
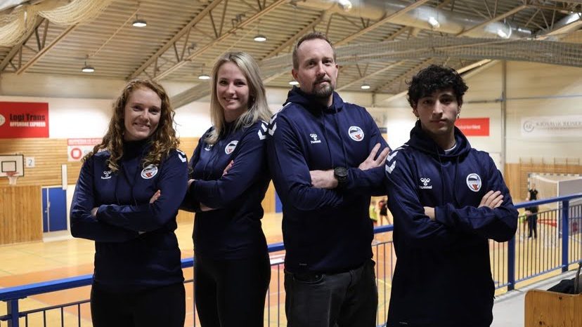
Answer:
[[[582,158],[582,133],[526,138],[524,116],[582,114],[582,68],[507,64],[507,162],[519,157]]]

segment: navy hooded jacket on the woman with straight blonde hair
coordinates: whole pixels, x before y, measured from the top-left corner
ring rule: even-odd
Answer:
[[[214,209],[196,210],[194,251],[214,260],[266,255],[261,229],[261,201],[271,180],[265,158],[266,123],[257,121],[237,131],[227,125],[219,140],[208,145],[205,140],[212,129],[202,135],[190,160],[195,181],[185,204],[203,203]],[[231,161],[233,166],[223,175]]]

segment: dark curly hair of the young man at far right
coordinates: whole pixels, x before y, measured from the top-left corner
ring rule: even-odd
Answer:
[[[440,65],[430,65],[425,69],[420,69],[412,81],[408,84],[408,103],[415,108],[420,98],[434,93],[434,91],[452,88],[457,97],[458,105],[463,105],[463,95],[469,87],[463,81],[463,77],[450,67]]]

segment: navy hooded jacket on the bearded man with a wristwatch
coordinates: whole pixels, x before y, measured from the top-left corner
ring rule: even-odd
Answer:
[[[345,272],[372,258],[368,207],[373,192],[384,192],[384,173],[358,166],[377,143],[380,151],[388,145],[366,109],[337,93],[326,107],[294,87],[269,134],[269,167],[283,203],[285,269]],[[348,168],[343,189],[311,186],[309,171],[335,167]]]

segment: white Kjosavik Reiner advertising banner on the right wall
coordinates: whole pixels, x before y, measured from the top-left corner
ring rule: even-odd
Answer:
[[[536,138],[546,136],[582,137],[582,116],[537,116],[522,118],[522,136]]]

